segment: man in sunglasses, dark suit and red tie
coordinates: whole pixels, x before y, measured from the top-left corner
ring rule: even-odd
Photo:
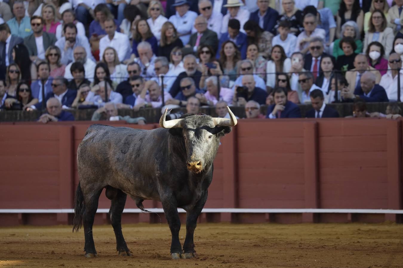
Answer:
[[[323,52],[323,39],[320,37],[314,37],[309,42],[309,51],[310,54],[307,53],[305,55],[305,63],[303,68],[305,70],[310,70],[314,75],[314,80],[319,76],[319,73],[323,72],[320,67],[320,63],[322,63],[322,58],[324,56],[328,56],[332,58],[333,62],[336,62],[333,56]]]

